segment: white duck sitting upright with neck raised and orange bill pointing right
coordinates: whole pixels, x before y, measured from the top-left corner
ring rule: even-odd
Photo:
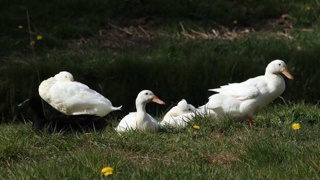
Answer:
[[[129,113],[125,116],[116,127],[116,131],[122,132],[126,130],[142,130],[155,132],[159,128],[159,123],[146,113],[146,104],[148,102],[158,104],[166,104],[157,98],[151,91],[144,90],[138,94],[135,99],[136,112]]]

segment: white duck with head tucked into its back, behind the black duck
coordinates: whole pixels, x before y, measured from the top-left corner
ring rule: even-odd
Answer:
[[[120,107],[113,107],[111,102],[85,84],[76,82],[72,74],[60,72],[44,80],[39,85],[39,95],[52,107],[65,115],[106,116]]]

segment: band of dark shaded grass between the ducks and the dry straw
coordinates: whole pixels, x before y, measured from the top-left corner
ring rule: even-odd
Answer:
[[[295,80],[285,78],[282,96],[317,103],[320,82],[314,64],[320,52],[319,33],[298,31],[292,36],[290,40],[257,34],[234,41],[163,38],[154,47],[124,52],[105,49],[102,42],[90,39],[65,50],[37,52],[37,64],[41,80],[60,71],[71,72],[76,81],[95,89],[113,105],[123,105],[120,113],[124,115],[134,110],[136,95],[143,89],[150,89],[168,104],[151,105],[152,112],[156,108],[164,111],[182,98],[195,106],[203,105],[211,95],[207,89],[262,75],[271,60],[283,59]],[[301,50],[296,48],[299,44]],[[0,110],[3,121],[8,122],[21,113],[16,105],[37,93],[39,82],[32,56],[8,62],[0,77]],[[49,114],[54,112],[49,106],[45,109]]]

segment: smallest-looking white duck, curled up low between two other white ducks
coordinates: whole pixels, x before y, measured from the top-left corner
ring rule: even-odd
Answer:
[[[176,106],[172,107],[161,121],[160,125],[173,127],[185,127],[190,119],[195,117],[196,108],[182,99]]]

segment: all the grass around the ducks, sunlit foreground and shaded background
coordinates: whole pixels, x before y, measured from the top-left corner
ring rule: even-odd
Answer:
[[[25,8],[32,38],[43,36],[34,47],[40,80],[71,72],[123,105],[112,120],[134,111],[143,89],[167,103],[147,106],[161,120],[171,103],[203,105],[207,89],[262,75],[274,59],[295,79],[254,128],[205,117],[155,134],[35,132],[24,123],[33,112],[16,108],[39,85]],[[115,179],[319,179],[319,12],[317,1],[300,0],[3,1],[0,179],[99,179],[106,166]]]

